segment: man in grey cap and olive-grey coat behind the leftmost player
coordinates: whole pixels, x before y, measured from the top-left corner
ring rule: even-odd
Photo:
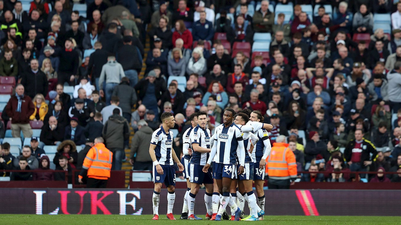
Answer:
[[[138,131],[132,137],[130,163],[134,170],[152,170],[152,159],[146,150],[152,139],[152,128],[144,119],[138,121]],[[134,155],[136,156],[134,157]]]

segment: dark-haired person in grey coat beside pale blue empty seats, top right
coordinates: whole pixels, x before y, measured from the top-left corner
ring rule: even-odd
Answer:
[[[359,6],[359,12],[354,14],[352,28],[358,33],[369,33],[373,31],[373,14],[368,12],[365,4]]]

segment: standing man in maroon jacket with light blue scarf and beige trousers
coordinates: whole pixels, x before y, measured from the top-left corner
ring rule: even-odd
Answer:
[[[15,96],[11,96],[5,108],[10,117],[13,137],[20,137],[20,131],[24,137],[32,137],[32,129],[29,125],[29,116],[35,111],[31,98],[24,95],[24,86],[18,84],[15,88]]]

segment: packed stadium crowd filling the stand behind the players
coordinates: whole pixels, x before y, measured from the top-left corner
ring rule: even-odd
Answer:
[[[152,170],[148,149],[161,113],[175,117],[181,158],[192,113],[207,112],[214,133],[223,110],[248,108],[273,125],[272,144],[286,136],[302,181],[401,172],[401,2],[394,2],[0,0],[0,169],[54,164],[71,172],[103,136],[112,169],[129,160],[134,170]],[[30,141],[10,153],[15,143],[7,139],[21,132]],[[401,174],[368,178],[400,182]]]

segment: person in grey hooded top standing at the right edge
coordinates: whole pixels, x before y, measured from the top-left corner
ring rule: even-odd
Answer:
[[[387,74],[387,80],[390,105],[393,112],[397,112],[401,108],[401,61],[395,62],[394,70]]]

